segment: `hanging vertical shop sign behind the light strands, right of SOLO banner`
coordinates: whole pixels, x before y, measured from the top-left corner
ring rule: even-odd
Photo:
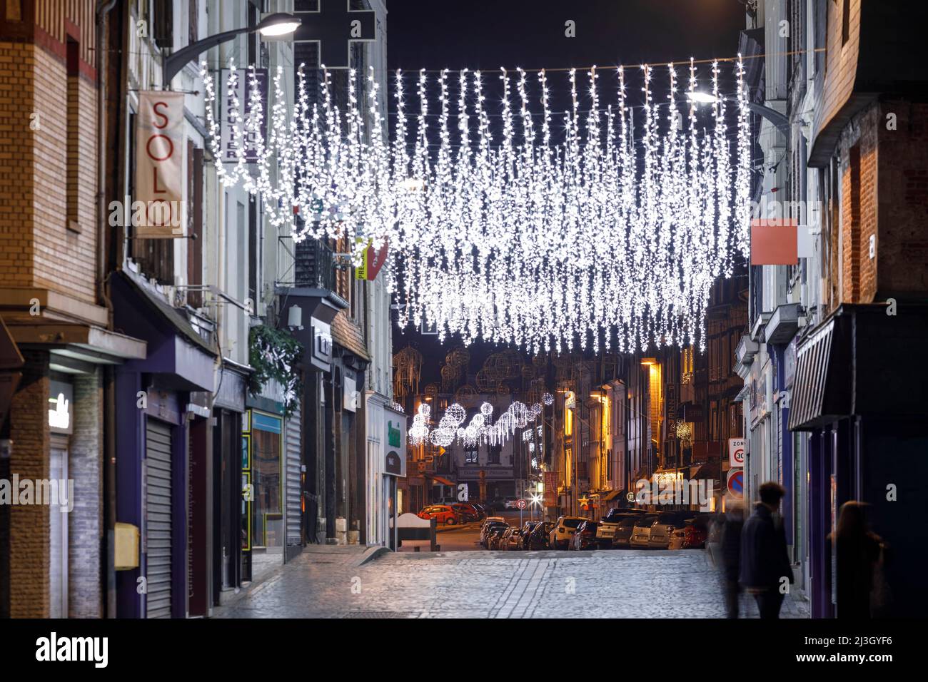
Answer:
[[[252,111],[256,113],[267,101],[267,70],[255,69],[251,78],[245,69],[224,69],[222,84],[222,161],[238,163],[240,152],[242,161],[255,163],[263,146],[259,143],[267,136],[267,121],[263,116],[260,122],[251,118]]]

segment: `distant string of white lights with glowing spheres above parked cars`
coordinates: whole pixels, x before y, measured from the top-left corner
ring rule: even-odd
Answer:
[[[486,443],[490,445],[504,444],[515,435],[519,429],[525,429],[533,423],[542,413],[540,403],[525,405],[514,401],[493,421],[493,405],[483,403],[480,411],[476,412],[467,425],[467,410],[459,403],[448,405],[445,414],[438,422],[438,426],[429,429],[429,420],[432,408],[428,403],[419,405],[419,410],[412,418],[412,426],[407,431],[409,443],[414,447],[426,441],[433,445],[447,447],[456,440],[465,447]]]

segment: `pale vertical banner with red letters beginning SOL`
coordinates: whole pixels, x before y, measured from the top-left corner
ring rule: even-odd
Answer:
[[[135,135],[135,236],[182,238],[187,229],[184,93],[138,93]]]

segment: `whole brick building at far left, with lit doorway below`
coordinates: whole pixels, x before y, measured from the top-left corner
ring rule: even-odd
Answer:
[[[0,315],[25,361],[0,432],[4,471],[73,482],[69,512],[48,499],[0,507],[4,615],[103,615],[104,367],[145,355],[110,331],[102,296],[95,11],[0,6]]]

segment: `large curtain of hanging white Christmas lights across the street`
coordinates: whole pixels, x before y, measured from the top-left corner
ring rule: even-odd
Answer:
[[[261,195],[275,225],[290,224],[294,212],[303,216],[298,240],[347,237],[348,244],[361,245],[358,260],[368,243],[380,249],[389,242],[385,276],[402,304],[402,324],[434,325],[443,338],[506,342],[533,354],[570,351],[577,340],[594,350],[612,350],[614,343],[618,352],[651,343],[704,348],[709,289],[731,274],[735,257],[748,247],[743,65],[739,57],[731,117],[713,63],[713,120],[704,129],[695,99],[689,109],[682,97],[677,101],[672,64],[636,71],[643,92],[637,120],[624,68],[608,85],[595,67],[570,71],[572,104],[562,116],[563,135],[560,127],[553,135],[558,124],[546,71],[531,78],[521,69],[495,74],[503,92],[492,112],[502,119],[496,134],[480,71],[445,70],[431,78],[419,71],[415,107],[397,71],[389,141],[372,71],[365,88],[349,71],[342,110],[333,104],[324,69],[313,104],[301,71],[290,109],[278,70],[266,145],[257,135],[264,125],[260,88],[251,88],[246,117],[233,114],[228,122],[233,139],[257,138],[259,161],[250,168],[239,146],[238,163],[217,162],[217,169],[227,184]],[[235,70],[229,72],[234,79]],[[662,92],[669,93],[660,105],[653,95],[658,74],[666,78]],[[215,146],[214,87],[205,66],[202,76]],[[452,79],[457,97],[449,94]],[[589,101],[583,109],[581,80]],[[600,108],[604,87],[615,88],[614,107]],[[690,60],[689,93],[696,87]],[[366,102],[358,101],[359,92]],[[430,109],[432,92],[437,111]],[[540,112],[532,110],[535,102]],[[681,109],[689,112],[685,120]]]

